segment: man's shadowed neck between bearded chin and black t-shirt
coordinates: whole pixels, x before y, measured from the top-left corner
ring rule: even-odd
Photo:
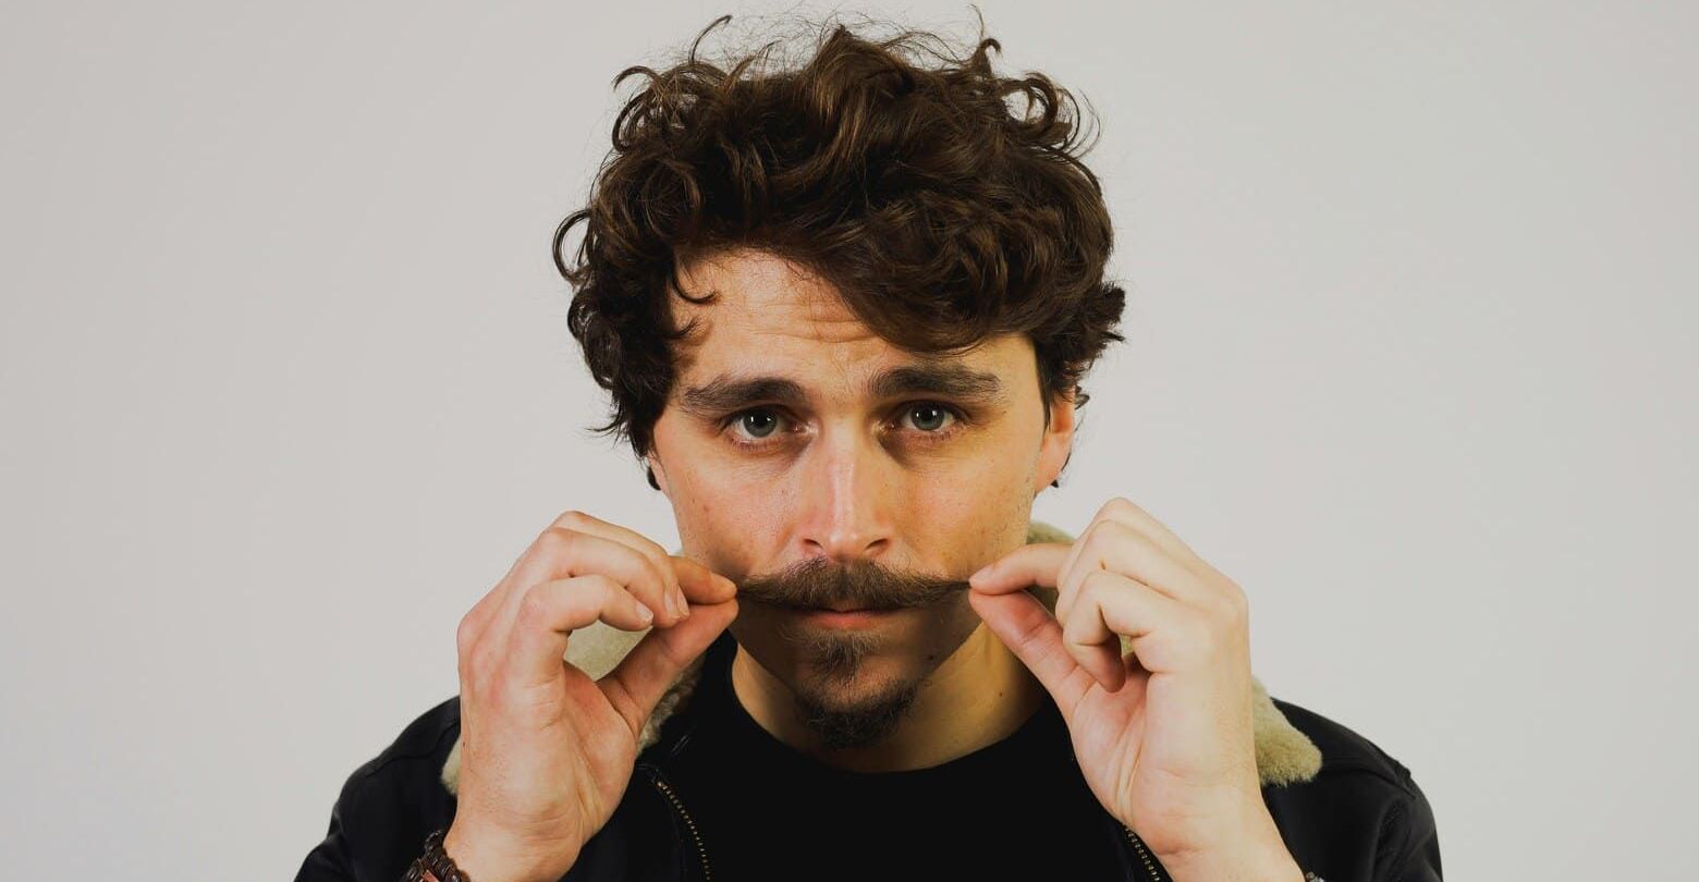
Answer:
[[[984,624],[950,654],[916,693],[883,739],[846,749],[822,748],[802,724],[790,688],[739,646],[732,692],[773,738],[850,772],[907,772],[948,763],[1002,741],[1043,702],[1043,687]]]

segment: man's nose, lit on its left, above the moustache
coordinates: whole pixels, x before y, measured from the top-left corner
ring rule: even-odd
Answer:
[[[892,546],[899,493],[894,464],[873,438],[827,435],[799,462],[802,554],[836,563],[883,554]]]

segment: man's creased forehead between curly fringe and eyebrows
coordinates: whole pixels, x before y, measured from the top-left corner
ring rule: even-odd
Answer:
[[[678,391],[729,376],[778,374],[821,391],[836,386],[860,394],[873,389],[870,377],[897,367],[1008,374],[1033,359],[1023,335],[994,336],[957,353],[902,350],[868,330],[831,282],[768,252],[737,250],[683,263],[680,284],[693,297],[714,292],[715,301],[669,299],[678,323],[697,321],[675,350]]]

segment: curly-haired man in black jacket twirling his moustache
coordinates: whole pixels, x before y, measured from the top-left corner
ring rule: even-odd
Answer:
[[[681,549],[549,525],[297,879],[1439,879],[1232,580],[1123,496],[1030,520],[1120,340],[1108,212],[1067,92],[924,39],[622,75],[556,258]]]

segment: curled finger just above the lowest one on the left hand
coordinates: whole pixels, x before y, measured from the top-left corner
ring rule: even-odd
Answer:
[[[680,615],[666,605],[666,581],[659,568],[637,549],[624,542],[581,534],[564,527],[549,527],[532,546],[530,554],[511,576],[508,593],[494,613],[494,637],[513,627],[513,617],[532,585],[569,580],[573,576],[608,576],[637,596],[654,613],[656,627],[669,627]]]

